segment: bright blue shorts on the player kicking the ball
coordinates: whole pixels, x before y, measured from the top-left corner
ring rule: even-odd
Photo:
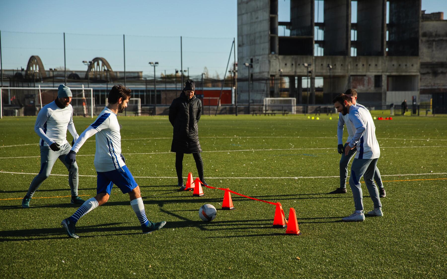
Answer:
[[[131,171],[126,166],[122,166],[117,170],[96,172],[98,174],[96,193],[107,193],[110,195],[113,184],[120,188],[123,194],[132,192],[138,186],[135,182]]]

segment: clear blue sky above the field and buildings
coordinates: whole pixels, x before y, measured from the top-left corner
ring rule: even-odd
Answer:
[[[279,20],[287,20],[289,0],[279,0]],[[422,0],[427,12],[447,12],[445,0]],[[289,15],[290,17],[290,15]],[[237,37],[236,0],[3,0],[0,2],[3,67],[26,67],[31,55],[46,69],[63,66],[66,33],[67,68],[84,70],[82,60],[106,58],[123,70],[122,34],[126,34],[126,70],[152,75],[149,61],[158,61],[157,75],[183,68],[199,75],[207,67],[222,78]],[[19,33],[20,32],[20,33]],[[233,60],[233,58],[232,58]]]

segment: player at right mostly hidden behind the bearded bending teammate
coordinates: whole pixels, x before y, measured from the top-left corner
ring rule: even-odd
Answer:
[[[357,103],[357,91],[354,88],[350,88],[346,90],[345,95],[348,96],[351,99],[352,105],[358,106],[361,108],[365,108],[363,105]],[[348,155],[345,155],[345,148],[348,145],[348,143],[351,141],[352,137],[354,136],[354,131],[352,129],[352,126],[349,124],[349,114],[343,115],[342,113],[339,113],[338,115],[338,125],[337,125],[337,138],[338,138],[338,154],[342,154],[342,158],[340,159],[340,188],[335,189],[332,192],[329,192],[329,194],[342,194],[346,193],[346,177],[348,176],[348,164],[351,158],[354,156],[355,152],[357,151],[357,148],[354,147],[351,149],[348,153]],[[346,123],[346,129],[348,130],[348,138],[346,139],[346,143],[343,146],[343,128]],[[380,171],[379,168],[375,168],[374,172],[374,180],[377,184],[377,187],[379,187],[379,195],[381,198],[384,198],[386,196],[385,188],[382,183],[382,178],[380,177]]]

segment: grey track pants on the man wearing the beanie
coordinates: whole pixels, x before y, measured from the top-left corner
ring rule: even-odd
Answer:
[[[38,187],[42,182],[50,176],[51,169],[55,164],[57,158],[68,169],[68,165],[65,163],[65,155],[70,152],[72,146],[67,142],[65,145],[60,147],[59,151],[53,151],[49,146],[39,146],[40,147],[40,171],[31,182],[30,188],[26,193],[26,196],[33,197],[34,193],[37,191]],[[70,189],[72,190],[72,196],[78,195],[78,165],[76,162],[72,165],[72,168],[68,170],[68,183],[70,184]]]

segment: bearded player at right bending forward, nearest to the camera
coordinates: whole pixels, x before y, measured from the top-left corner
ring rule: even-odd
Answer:
[[[374,204],[374,209],[368,212],[368,215],[383,216],[379,190],[373,180],[377,160],[380,157],[380,148],[375,137],[375,125],[371,114],[366,108],[354,106],[350,97],[345,94],[339,94],[333,99],[333,103],[338,112],[342,112],[343,115],[349,114],[349,124],[352,125],[354,131],[354,136],[345,148],[345,155],[347,156],[354,147],[358,147],[351,165],[349,179],[355,210],[350,216],[342,218],[342,221],[365,220],[363,193],[360,185],[362,176]]]

